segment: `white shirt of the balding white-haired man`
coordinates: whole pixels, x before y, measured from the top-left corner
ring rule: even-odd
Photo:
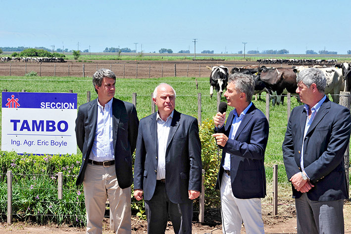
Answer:
[[[158,147],[158,156],[157,156],[157,175],[156,179],[166,178],[166,149],[169,130],[171,128],[172,118],[174,110],[171,115],[167,117],[166,121],[163,121],[162,118],[158,115],[157,112],[157,147]]]

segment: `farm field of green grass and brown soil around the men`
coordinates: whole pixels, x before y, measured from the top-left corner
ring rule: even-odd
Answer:
[[[71,62],[71,61],[69,61]],[[24,75],[24,65],[23,63],[18,62],[15,64],[14,62],[11,65],[11,76],[6,76],[8,74],[2,74],[2,72],[6,73],[4,70],[9,63],[0,63],[0,90],[7,89],[9,92],[20,92],[21,90],[26,90],[26,92],[68,92],[69,90],[73,90],[74,93],[78,93],[78,106],[82,105],[87,101],[87,92],[91,92],[91,99],[95,99],[97,97],[94,92],[94,88],[92,86],[91,77],[93,73],[96,71],[97,67],[106,67],[112,68],[112,70],[117,75],[116,80],[116,98],[122,99],[124,101],[132,102],[132,93],[137,93],[137,112],[138,117],[142,118],[151,114],[151,93],[153,92],[154,87],[160,82],[167,82],[171,84],[176,92],[176,109],[182,113],[197,117],[198,116],[198,93],[201,93],[201,110],[202,110],[202,121],[205,119],[211,119],[212,116],[216,113],[216,97],[214,96],[212,99],[209,97],[209,82],[208,77],[210,71],[205,68],[206,65],[212,66],[216,64],[224,64],[231,69],[233,66],[242,66],[242,65],[250,65],[257,64],[257,62],[251,61],[201,61],[198,62],[189,62],[182,61],[177,62],[177,76],[174,76],[174,64],[175,61],[130,61],[130,62],[116,62],[116,61],[94,61],[85,64],[85,76],[82,76],[82,67],[83,62],[73,62],[70,66],[70,76],[66,75],[66,69],[68,67],[67,63],[62,63],[64,66],[59,68],[58,63],[56,65],[56,76],[53,75],[53,64],[50,64],[50,67],[42,64],[42,76],[23,76]],[[133,63],[134,62],[134,63]],[[191,63],[188,69],[188,63]],[[5,64],[5,66],[4,66]],[[163,64],[163,65],[162,65]],[[200,64],[200,65],[199,65]],[[124,65],[124,66],[123,66]],[[138,78],[136,78],[136,67],[138,65]],[[278,64],[275,64],[276,66]],[[16,69],[14,67],[18,66]],[[280,64],[279,64],[280,66]],[[283,67],[291,67],[288,64],[282,64]],[[4,68],[5,67],[5,68]],[[33,69],[29,69],[31,66],[27,64],[27,72],[37,69],[38,64],[33,64]],[[123,73],[124,67],[124,73]],[[128,69],[127,69],[128,67]],[[142,68],[141,68],[142,67]],[[149,73],[149,67],[151,72]],[[161,77],[160,67],[163,67],[163,77]],[[199,72],[200,67],[200,72]],[[6,68],[8,69],[8,68]],[[59,71],[61,69],[61,71]],[[172,70],[173,69],[173,70]],[[35,70],[38,72],[38,70]],[[12,73],[15,72],[15,73]],[[18,73],[16,73],[18,72]],[[45,73],[47,72],[47,73]],[[51,72],[51,74],[49,74]],[[61,73],[59,73],[61,72]],[[188,72],[188,73],[187,73]],[[20,74],[21,73],[21,74]],[[17,75],[16,75],[17,74]],[[38,72],[39,74],[39,72]],[[44,75],[46,74],[46,75]],[[125,75],[123,78],[123,74]],[[127,75],[129,74],[129,75]],[[149,79],[150,74],[150,79]],[[200,75],[199,75],[200,74]],[[74,76],[74,77],[71,77]],[[159,77],[159,78],[152,78]],[[148,79],[141,79],[148,78]],[[198,87],[198,88],[197,88]],[[253,103],[258,107],[263,113],[265,113],[265,97],[262,96],[262,100],[253,101]],[[222,101],[224,99],[222,98]],[[0,99],[1,102],[1,99]],[[292,108],[297,106],[298,103],[295,98],[292,98]],[[232,109],[228,108],[228,113]],[[1,113],[0,113],[1,114]],[[275,106],[273,107],[270,104],[270,134],[269,134],[269,142],[266,150],[266,158],[265,158],[265,166],[267,170],[267,197],[262,200],[262,209],[263,209],[263,220],[266,225],[266,232],[270,233],[294,233],[294,229],[296,227],[296,216],[295,216],[295,207],[293,206],[294,201],[291,197],[291,189],[289,184],[287,183],[287,178],[285,176],[285,170],[282,162],[282,153],[281,153],[281,144],[284,139],[284,133],[286,130],[287,124],[287,114],[286,114],[286,104],[283,106]],[[79,152],[79,150],[78,150]],[[271,204],[271,181],[272,181],[272,170],[270,169],[273,164],[279,165],[279,182],[282,184],[283,190],[280,191],[282,194],[281,200],[279,203],[282,205],[279,206],[278,216],[275,217],[272,215],[272,206]],[[351,204],[348,202],[345,205],[345,222],[346,222],[346,233],[351,233]],[[208,212],[211,213],[211,212]],[[211,214],[207,214],[207,219],[205,217],[205,221],[208,228],[202,226],[200,224],[194,225],[193,233],[210,233],[214,228],[213,226],[218,226],[220,224],[220,214],[217,212],[213,212],[216,217],[211,216]],[[146,225],[143,224],[143,221],[134,220],[134,225],[138,226],[138,231],[135,231],[135,234],[143,233],[146,231]],[[132,227],[133,227],[132,224]],[[30,226],[33,228],[33,226]],[[41,227],[42,228],[42,227]],[[10,229],[12,231],[10,231]],[[43,230],[44,233],[84,233],[84,229],[75,229],[72,231],[67,231],[73,228],[65,227],[63,229],[58,229],[56,227],[46,227]],[[284,230],[285,229],[285,230]],[[26,231],[26,232],[22,232]],[[25,224],[21,224],[20,227],[1,225],[0,232],[4,234],[9,233],[39,233],[38,228],[34,228],[33,232],[29,229],[26,229]],[[50,230],[48,232],[48,230]],[[347,231],[349,230],[349,231]],[[46,232],[44,232],[46,231]],[[140,232],[139,232],[140,231]],[[21,233],[22,232],[22,233]],[[167,231],[168,232],[168,231]],[[168,233],[172,233],[172,230],[169,230]],[[109,233],[107,228],[105,229],[105,233]],[[214,234],[219,234],[221,231],[214,231]],[[295,232],[296,233],[296,232]]]

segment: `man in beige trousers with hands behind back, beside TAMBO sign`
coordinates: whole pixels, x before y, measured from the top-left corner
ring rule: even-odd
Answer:
[[[76,137],[82,165],[76,185],[84,184],[87,233],[101,234],[108,197],[115,233],[131,233],[132,154],[139,119],[133,104],[114,98],[115,74],[101,68],[93,76],[98,99],[79,107]]]

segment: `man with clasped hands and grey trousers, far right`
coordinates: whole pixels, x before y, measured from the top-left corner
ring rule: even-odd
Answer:
[[[343,234],[350,110],[325,96],[326,78],[320,70],[302,70],[297,81],[296,92],[305,105],[290,115],[283,158],[292,182],[298,233]]]

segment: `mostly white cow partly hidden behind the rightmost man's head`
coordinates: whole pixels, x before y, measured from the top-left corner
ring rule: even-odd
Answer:
[[[295,70],[298,73],[306,69],[307,67],[299,66],[296,67]],[[327,79],[327,86],[325,87],[324,93],[326,95],[331,94],[333,102],[339,103],[339,95],[340,91],[345,90],[345,81],[343,77],[343,69],[339,67],[323,67],[323,68],[317,68],[323,72],[325,75],[325,78]]]

